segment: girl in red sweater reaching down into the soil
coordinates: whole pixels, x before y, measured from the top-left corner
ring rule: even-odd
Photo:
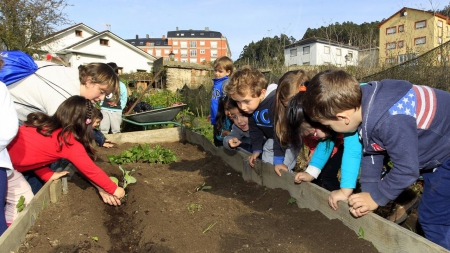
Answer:
[[[68,159],[86,176],[105,203],[120,205],[125,195],[106,173],[92,161],[92,103],[82,96],[64,101],[53,116],[35,112],[27,116],[24,126],[8,145],[14,168],[19,172],[34,170],[44,181],[55,180],[68,172],[54,172],[49,165]]]

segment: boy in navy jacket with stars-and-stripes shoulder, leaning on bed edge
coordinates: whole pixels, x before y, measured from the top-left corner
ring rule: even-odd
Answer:
[[[362,138],[363,192],[349,197],[354,216],[386,205],[422,174],[419,222],[427,239],[450,249],[450,93],[403,80],[360,86],[328,70],[311,80],[303,108],[334,131]],[[386,154],[393,168],[382,176]]]

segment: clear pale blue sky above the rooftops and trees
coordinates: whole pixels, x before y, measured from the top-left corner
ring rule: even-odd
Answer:
[[[157,38],[168,31],[221,32],[232,59],[245,45],[282,33],[300,40],[307,28],[336,22],[381,21],[403,7],[440,10],[446,0],[67,0],[63,10],[73,24],[84,23],[98,32],[108,29],[122,39]],[[69,27],[58,27],[64,29]]]

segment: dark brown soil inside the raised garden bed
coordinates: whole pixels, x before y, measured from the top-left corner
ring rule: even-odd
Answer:
[[[100,149],[97,164],[119,177],[106,155],[134,145]],[[341,221],[289,204],[287,191],[243,181],[219,157],[191,144],[160,145],[178,162],[123,165],[137,168],[137,183],[120,207],[104,204],[76,173],[19,252],[377,252]],[[203,184],[212,188],[196,192]]]

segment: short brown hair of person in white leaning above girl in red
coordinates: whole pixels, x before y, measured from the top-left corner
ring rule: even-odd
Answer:
[[[87,65],[80,65],[78,71],[82,85],[86,85],[86,81],[90,77],[92,83],[107,85],[107,93],[113,94],[112,101],[117,102],[119,100],[119,77],[108,64],[94,62]]]

